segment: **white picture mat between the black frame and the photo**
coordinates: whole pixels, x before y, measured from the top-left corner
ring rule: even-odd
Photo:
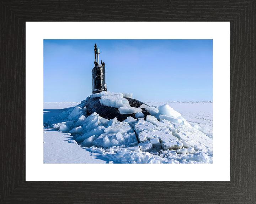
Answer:
[[[213,39],[213,164],[43,164],[44,39]],[[26,181],[230,181],[230,23],[26,22]]]

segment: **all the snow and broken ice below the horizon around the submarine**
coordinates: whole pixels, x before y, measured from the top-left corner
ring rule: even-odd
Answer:
[[[213,162],[212,102],[145,102],[134,109],[120,94],[99,96],[138,119],[87,115],[85,101],[44,103],[44,163]],[[151,114],[146,120],[141,108]]]

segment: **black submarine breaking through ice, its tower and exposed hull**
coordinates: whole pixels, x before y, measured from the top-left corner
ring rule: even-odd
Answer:
[[[105,71],[105,62],[99,63],[99,55],[100,49],[95,44],[94,46],[94,68],[92,69],[92,94],[101,93],[102,91],[107,91],[106,85],[106,71]],[[111,106],[105,106],[100,102],[101,97],[88,97],[85,100],[85,106],[87,108],[87,114],[91,115],[96,112],[102,118],[106,118],[108,120],[117,118],[119,122],[124,121],[128,117],[135,118],[135,113],[133,114],[121,114],[118,111],[118,108],[114,108]],[[134,98],[124,97],[128,100],[130,107],[139,108],[142,104],[145,104],[139,100]],[[148,106],[147,104],[145,104]],[[144,119],[146,119],[147,115],[150,113],[145,110],[145,108],[141,108],[142,113],[144,114]]]

